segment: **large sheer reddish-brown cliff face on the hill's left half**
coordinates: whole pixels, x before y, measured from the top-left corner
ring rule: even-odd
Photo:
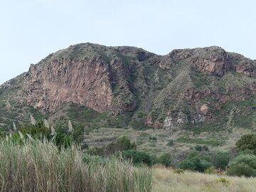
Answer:
[[[64,102],[74,102],[98,112],[110,110],[110,67],[101,58],[53,60],[42,70],[31,65],[28,73],[31,80],[21,95],[37,108],[54,111]]]

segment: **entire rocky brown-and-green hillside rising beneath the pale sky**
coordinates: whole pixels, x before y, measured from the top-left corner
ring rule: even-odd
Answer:
[[[256,128],[256,61],[212,46],[156,55],[92,43],[48,55],[0,85],[0,127],[29,114],[87,127]]]

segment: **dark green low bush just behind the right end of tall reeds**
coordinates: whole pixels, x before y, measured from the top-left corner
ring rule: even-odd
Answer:
[[[136,150],[127,150],[122,151],[122,156],[124,159],[129,159],[133,162],[133,164],[146,164],[147,166],[152,165],[151,156],[144,151],[136,151]]]

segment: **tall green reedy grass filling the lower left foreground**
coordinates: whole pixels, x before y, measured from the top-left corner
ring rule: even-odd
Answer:
[[[151,191],[152,173],[114,157],[85,156],[51,142],[0,144],[0,191]]]

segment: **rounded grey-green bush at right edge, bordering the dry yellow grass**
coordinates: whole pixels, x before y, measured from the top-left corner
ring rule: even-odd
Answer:
[[[256,156],[240,154],[228,164],[230,176],[256,176]]]

